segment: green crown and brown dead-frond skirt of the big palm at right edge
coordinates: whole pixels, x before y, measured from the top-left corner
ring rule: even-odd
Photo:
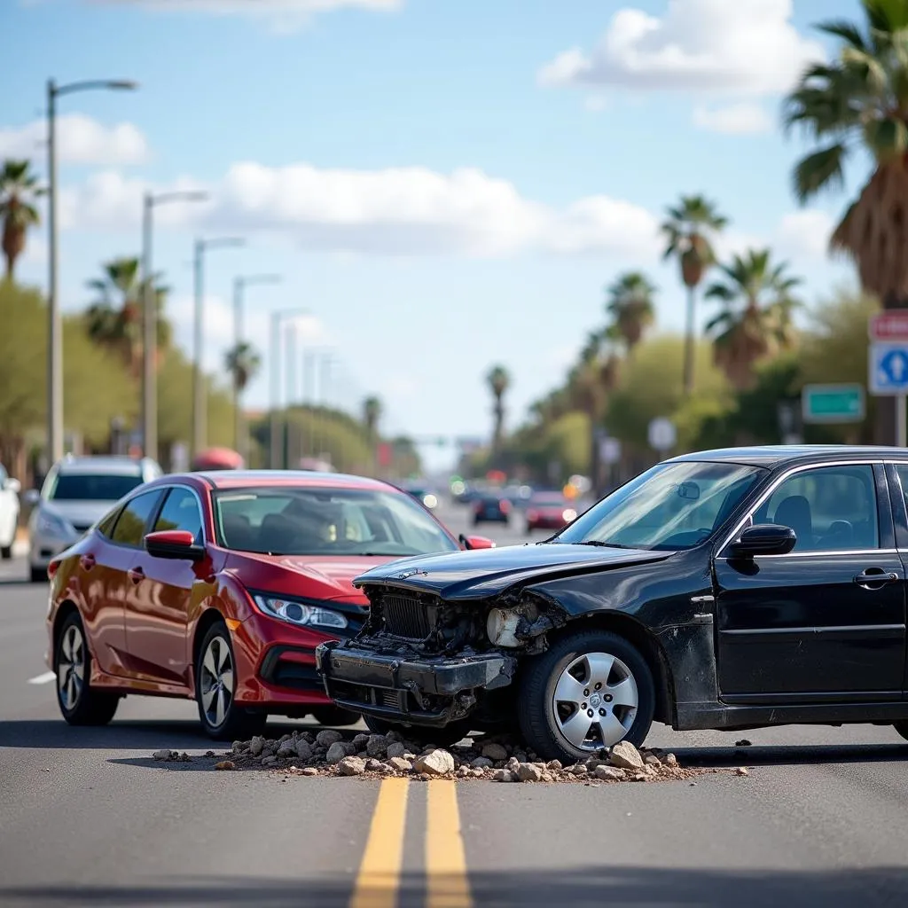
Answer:
[[[793,173],[804,203],[842,189],[849,154],[869,154],[873,173],[832,236],[857,265],[865,291],[886,308],[908,305],[908,3],[862,0],[864,31],[846,20],[820,31],[841,41],[831,64],[804,71],[785,101],[787,130],[801,127],[815,150]]]

